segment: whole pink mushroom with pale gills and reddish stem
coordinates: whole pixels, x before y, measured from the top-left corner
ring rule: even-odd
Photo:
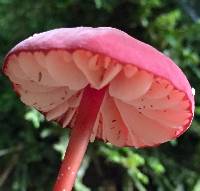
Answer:
[[[7,54],[3,71],[22,102],[72,129],[54,191],[72,189],[89,141],[157,146],[185,132],[194,114],[178,66],[114,28],[33,35]]]

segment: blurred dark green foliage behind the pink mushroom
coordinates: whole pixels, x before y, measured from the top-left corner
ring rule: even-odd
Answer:
[[[0,62],[16,43],[58,27],[112,26],[155,46],[196,89],[183,136],[157,148],[91,144],[76,191],[200,191],[200,3],[198,0],[0,0]],[[25,107],[0,76],[0,190],[51,190],[69,131]]]

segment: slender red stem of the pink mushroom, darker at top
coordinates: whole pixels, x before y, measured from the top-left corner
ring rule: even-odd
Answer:
[[[87,149],[106,88],[96,90],[87,86],[78,108],[75,126],[53,191],[71,191],[77,171]]]

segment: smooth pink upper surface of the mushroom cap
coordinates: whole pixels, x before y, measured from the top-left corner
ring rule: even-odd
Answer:
[[[169,80],[177,89],[186,93],[194,113],[194,97],[190,84],[179,67],[155,48],[138,41],[114,28],[77,27],[60,28],[33,35],[15,46],[7,55],[21,51],[51,49],[86,49],[112,57],[124,64],[138,68]]]

